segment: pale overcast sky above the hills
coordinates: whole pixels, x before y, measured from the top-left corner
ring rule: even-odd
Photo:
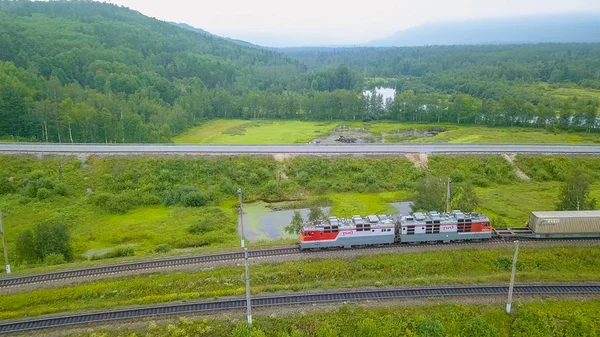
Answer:
[[[283,46],[352,45],[430,22],[600,12],[600,0],[106,0],[216,35]]]

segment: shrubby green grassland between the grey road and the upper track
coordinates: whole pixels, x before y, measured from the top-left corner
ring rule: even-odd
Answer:
[[[32,196],[28,194],[31,191],[22,187],[26,179],[32,175],[39,177],[41,172],[58,184],[59,159],[11,156],[2,159],[0,208],[17,274],[76,266],[44,266],[42,261],[29,268],[17,263],[17,236],[41,222],[69,226],[77,266],[108,263],[88,259],[124,246],[133,248],[135,254],[124,257],[125,260],[208,253],[238,247],[234,208],[237,186],[244,190],[247,203],[288,200],[292,204],[288,207],[298,208],[325,199],[332,206],[331,214],[348,216],[390,213],[388,202],[410,200],[412,187],[424,174],[404,158],[299,157],[276,161],[271,157],[92,157],[84,164],[79,159],[63,158],[66,195],[58,195],[51,189],[50,195]],[[519,181],[513,168],[499,157],[433,156],[429,158],[429,171],[439,177],[450,176],[455,183],[473,183],[481,200],[479,210],[501,225],[520,226],[529,212],[552,210],[561,181],[574,167],[585,168],[594,178],[592,195],[600,200],[599,158],[518,157],[516,163],[531,181]],[[208,194],[207,171],[211,200],[206,206],[163,204],[165,196],[181,186]],[[87,195],[88,187],[92,195]],[[275,205],[281,207],[280,203]],[[293,241],[252,243],[252,247]],[[154,251],[165,244],[172,251]]]

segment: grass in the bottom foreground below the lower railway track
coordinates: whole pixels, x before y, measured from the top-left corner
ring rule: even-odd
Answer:
[[[533,301],[502,304],[426,304],[349,307],[332,311],[255,315],[252,328],[231,318],[184,317],[140,327],[93,329],[80,336],[232,336],[232,337],[592,337],[600,331],[600,300]]]

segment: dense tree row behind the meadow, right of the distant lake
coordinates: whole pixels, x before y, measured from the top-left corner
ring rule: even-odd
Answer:
[[[506,96],[480,99],[467,94],[399,92],[387,117],[399,122],[534,126],[548,129],[598,131],[600,120],[595,99],[545,97],[528,101]]]

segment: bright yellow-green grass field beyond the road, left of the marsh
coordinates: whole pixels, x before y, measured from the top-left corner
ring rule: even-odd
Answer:
[[[174,138],[186,144],[295,144],[328,134],[336,123],[213,120]]]

